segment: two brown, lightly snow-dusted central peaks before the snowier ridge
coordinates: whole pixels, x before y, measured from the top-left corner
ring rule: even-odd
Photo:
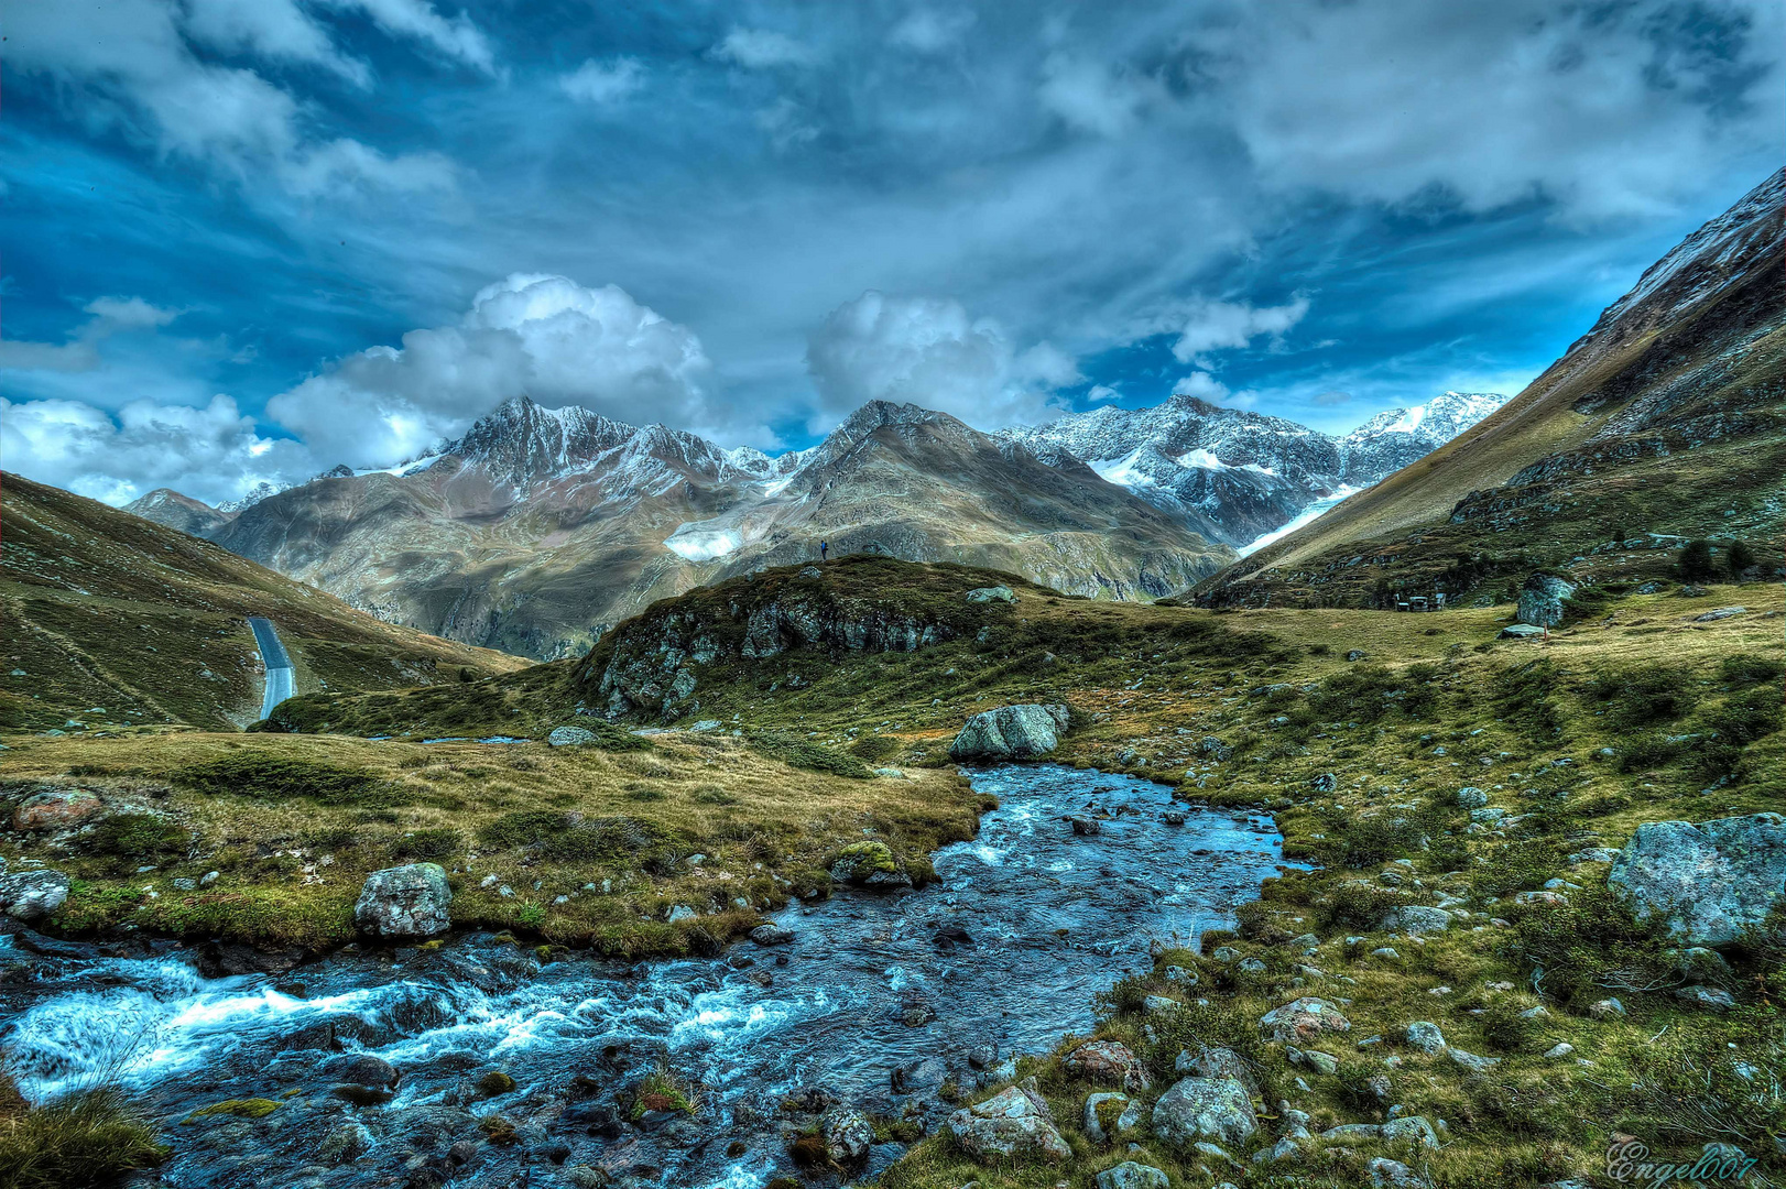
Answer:
[[[820,541],[1111,598],[1188,589],[1232,557],[1081,464],[879,402],[770,459],[518,396],[429,457],[332,471],[214,521],[173,493],[139,505],[388,621],[541,659]]]

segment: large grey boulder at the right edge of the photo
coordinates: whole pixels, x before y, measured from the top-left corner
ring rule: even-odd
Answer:
[[[1647,821],[1606,882],[1684,944],[1732,944],[1786,898],[1786,818]]]

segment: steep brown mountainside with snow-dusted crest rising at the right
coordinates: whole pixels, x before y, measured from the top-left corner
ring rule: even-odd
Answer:
[[[1434,582],[1498,591],[1534,564],[1663,573],[1661,555],[1693,536],[1775,557],[1782,268],[1786,170],[1650,266],[1498,412],[1231,566],[1200,598],[1359,605]]]

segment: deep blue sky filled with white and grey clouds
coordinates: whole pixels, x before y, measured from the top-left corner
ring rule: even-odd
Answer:
[[[1516,393],[1779,166],[1777,0],[18,0],[0,466],[391,466],[504,398],[768,452]]]

